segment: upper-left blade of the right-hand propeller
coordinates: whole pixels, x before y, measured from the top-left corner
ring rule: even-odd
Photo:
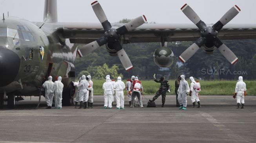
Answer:
[[[181,8],[182,12],[189,18],[201,31],[205,30],[206,24],[199,18],[199,16],[187,4]]]

